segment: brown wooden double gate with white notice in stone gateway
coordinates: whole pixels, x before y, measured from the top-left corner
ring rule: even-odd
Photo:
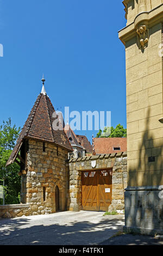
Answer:
[[[112,197],[112,170],[82,172],[82,210],[108,211]]]

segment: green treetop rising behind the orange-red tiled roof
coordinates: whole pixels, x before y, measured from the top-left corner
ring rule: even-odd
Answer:
[[[114,137],[127,137],[127,129],[123,128],[123,125],[118,124],[115,128],[111,127],[104,127],[104,130],[99,130],[96,135],[96,138],[114,138]]]

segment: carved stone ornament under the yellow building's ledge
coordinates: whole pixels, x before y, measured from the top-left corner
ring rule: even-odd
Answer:
[[[136,29],[137,42],[141,50],[144,50],[148,46],[148,29],[145,25],[139,26]]]

